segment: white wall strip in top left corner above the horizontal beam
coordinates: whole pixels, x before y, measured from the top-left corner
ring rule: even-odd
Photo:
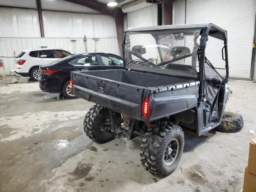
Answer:
[[[37,8],[36,0],[0,0],[0,5]]]

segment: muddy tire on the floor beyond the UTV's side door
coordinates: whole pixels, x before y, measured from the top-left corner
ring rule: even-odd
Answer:
[[[215,128],[219,132],[238,132],[244,126],[244,120],[241,115],[233,112],[224,112],[222,121],[218,127]]]

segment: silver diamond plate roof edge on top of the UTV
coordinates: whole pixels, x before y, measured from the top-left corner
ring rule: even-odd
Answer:
[[[180,24],[180,25],[159,25],[159,26],[142,26],[128,28],[126,31],[150,31],[150,30],[165,30],[165,29],[185,29],[185,28],[205,28],[210,23],[198,24]]]

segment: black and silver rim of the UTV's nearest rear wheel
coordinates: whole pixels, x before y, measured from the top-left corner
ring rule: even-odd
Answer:
[[[164,164],[171,165],[178,156],[179,142],[176,138],[172,139],[164,151]]]

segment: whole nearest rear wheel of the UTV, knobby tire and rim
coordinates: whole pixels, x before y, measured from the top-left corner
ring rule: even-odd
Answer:
[[[158,177],[164,177],[176,169],[183,149],[182,128],[172,122],[160,122],[158,128],[154,128],[153,134],[143,138],[140,161],[146,170]]]

